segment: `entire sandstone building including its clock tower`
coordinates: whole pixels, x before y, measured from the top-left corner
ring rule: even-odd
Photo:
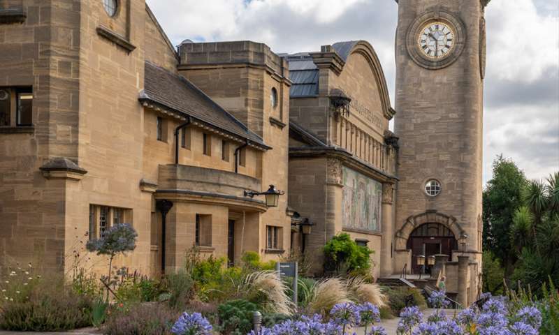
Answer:
[[[117,265],[143,274],[193,246],[230,264],[303,251],[321,274],[321,248],[347,232],[375,251],[375,278],[447,276],[473,301],[484,4],[398,6],[392,108],[364,40],[175,48],[145,0],[0,0],[0,269],[105,269],[85,241],[131,223]],[[423,257],[437,262],[419,280]]]

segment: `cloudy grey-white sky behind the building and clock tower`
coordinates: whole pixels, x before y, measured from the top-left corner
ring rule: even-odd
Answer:
[[[475,0],[467,0],[475,1]],[[275,52],[368,40],[394,98],[392,0],[147,0],[175,45],[254,40]],[[559,170],[559,0],[493,0],[486,9],[484,181],[498,154],[530,178]],[[398,116],[396,116],[398,117]]]

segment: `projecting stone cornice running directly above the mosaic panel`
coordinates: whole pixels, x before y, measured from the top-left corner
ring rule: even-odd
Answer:
[[[377,181],[388,184],[395,184],[398,181],[398,177],[388,174],[379,168],[376,168],[361,159],[356,158],[346,149],[341,147],[291,147],[289,148],[289,158],[299,158],[299,157],[318,157],[326,156],[328,158],[337,158],[345,166],[353,168],[368,177],[371,177]]]

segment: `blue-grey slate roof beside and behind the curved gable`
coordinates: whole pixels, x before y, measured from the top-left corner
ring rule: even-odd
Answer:
[[[347,61],[349,53],[358,42],[358,40],[337,42],[332,47],[344,61]],[[293,82],[289,97],[317,96],[319,94],[319,69],[312,61],[310,53],[282,54],[282,57],[289,62],[289,80]]]

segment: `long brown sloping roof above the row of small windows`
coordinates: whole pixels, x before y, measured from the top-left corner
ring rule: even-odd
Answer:
[[[249,131],[245,124],[217,105],[186,78],[146,61],[144,84],[140,101],[163,105],[208,126],[249,140],[263,149],[270,149],[259,135]]]

